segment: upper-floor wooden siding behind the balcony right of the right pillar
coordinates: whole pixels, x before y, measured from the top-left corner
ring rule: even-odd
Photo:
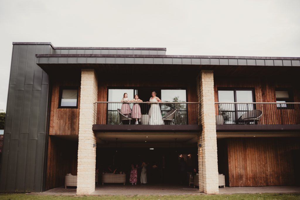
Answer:
[[[291,88],[294,102],[300,102],[300,87],[295,80],[282,79],[214,79],[214,98],[218,102],[218,88],[253,88],[255,102],[276,102],[276,88]],[[300,123],[298,110],[295,109],[277,109],[276,104],[264,106],[257,105],[256,109],[262,111],[262,121],[268,121],[270,124],[295,124]],[[297,109],[298,105],[297,105]],[[218,111],[216,110],[216,114]],[[282,119],[283,118],[283,119]]]

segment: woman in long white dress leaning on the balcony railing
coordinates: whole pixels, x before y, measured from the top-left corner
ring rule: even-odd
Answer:
[[[161,108],[159,107],[159,104],[157,102],[161,102],[161,100],[156,96],[156,92],[153,91],[151,93],[151,98],[149,102],[155,102],[151,103],[150,110],[149,110],[149,124],[150,125],[163,125],[164,121],[161,116]]]

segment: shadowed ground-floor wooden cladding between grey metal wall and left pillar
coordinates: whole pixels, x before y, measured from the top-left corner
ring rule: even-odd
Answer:
[[[64,185],[68,173],[77,175],[77,141],[49,136],[46,190]]]

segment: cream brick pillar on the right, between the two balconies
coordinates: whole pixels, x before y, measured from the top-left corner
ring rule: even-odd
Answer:
[[[206,194],[218,194],[217,133],[214,110],[214,72],[201,70],[197,77],[198,100],[201,103],[198,136],[199,190]],[[201,147],[199,147],[201,145]]]

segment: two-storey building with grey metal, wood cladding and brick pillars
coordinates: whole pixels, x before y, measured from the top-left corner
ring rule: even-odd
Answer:
[[[299,74],[300,58],[13,43],[0,191],[45,191],[71,173],[90,194],[95,169],[141,162],[157,167],[149,183],[180,182],[181,158],[207,194],[218,174],[229,187],[297,185]],[[143,100],[137,122],[124,93]]]

